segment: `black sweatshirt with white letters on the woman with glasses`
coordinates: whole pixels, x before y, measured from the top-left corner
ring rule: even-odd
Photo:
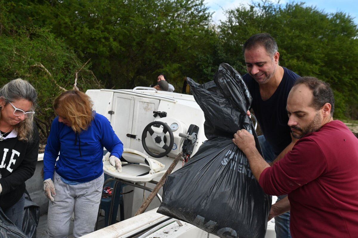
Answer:
[[[39,134],[35,126],[33,141],[19,141],[18,137],[0,141],[0,207],[5,210],[19,201],[25,191],[25,181],[34,175]]]

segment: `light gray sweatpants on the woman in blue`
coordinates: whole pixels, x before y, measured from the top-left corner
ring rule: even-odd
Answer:
[[[69,185],[55,172],[55,201],[49,202],[47,227],[49,238],[67,238],[74,212],[73,237],[81,237],[95,230],[104,175],[87,183]]]

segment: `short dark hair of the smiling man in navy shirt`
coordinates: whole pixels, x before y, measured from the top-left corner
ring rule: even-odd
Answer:
[[[271,57],[274,57],[277,51],[279,51],[279,47],[277,47],[277,43],[269,33],[258,33],[250,36],[249,39],[242,46],[242,52],[245,54],[245,50],[251,50],[254,47],[263,46],[266,49],[267,54]]]

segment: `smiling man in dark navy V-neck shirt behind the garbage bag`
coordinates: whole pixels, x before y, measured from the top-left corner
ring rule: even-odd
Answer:
[[[247,74],[243,76],[253,98],[251,107],[263,132],[259,136],[263,156],[276,162],[289,152],[296,139],[287,125],[287,96],[300,76],[279,65],[275,39],[267,33],[251,36],[243,45]],[[248,114],[250,112],[248,111]],[[285,196],[280,196],[279,199]],[[275,217],[277,238],[291,237],[290,214]]]

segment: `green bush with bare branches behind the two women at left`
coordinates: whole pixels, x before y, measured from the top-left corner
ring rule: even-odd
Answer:
[[[55,116],[54,98],[72,89],[76,79],[82,91],[100,88],[101,82],[63,40],[48,30],[16,27],[11,17],[0,2],[0,85],[17,78],[32,83],[38,92],[35,122],[44,143]]]

